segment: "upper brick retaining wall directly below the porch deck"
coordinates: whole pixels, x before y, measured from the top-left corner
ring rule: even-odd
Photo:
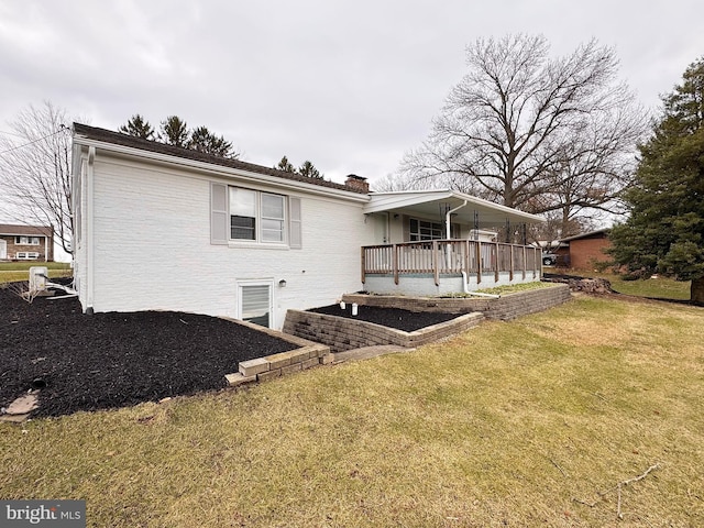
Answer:
[[[446,314],[479,311],[487,319],[510,320],[559,306],[570,298],[569,286],[556,284],[553,287],[504,295],[498,299],[348,294],[342,297],[342,300],[356,302],[360,306],[393,307],[410,311],[440,311]]]

